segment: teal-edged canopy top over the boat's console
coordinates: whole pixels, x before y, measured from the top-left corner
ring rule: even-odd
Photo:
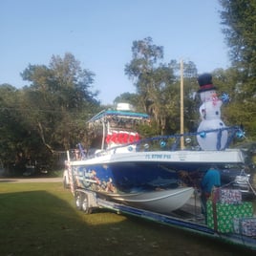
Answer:
[[[92,117],[88,122],[94,122],[96,120],[104,119],[105,117],[118,117],[118,118],[133,118],[133,119],[148,119],[147,114],[131,112],[131,111],[119,111],[119,110],[103,110]]]

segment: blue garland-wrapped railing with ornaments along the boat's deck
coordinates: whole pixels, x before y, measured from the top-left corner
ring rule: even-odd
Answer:
[[[224,131],[227,131],[227,139],[224,147],[221,148],[221,140]],[[138,141],[118,144],[107,149],[95,149],[86,152],[81,144],[78,144],[77,149],[70,151],[72,160],[86,160],[103,155],[129,152],[147,152],[147,151],[175,151],[181,150],[181,138],[185,141],[184,150],[202,151],[203,149],[197,142],[197,137],[205,138],[207,134],[217,133],[216,150],[221,151],[227,149],[234,138],[243,139],[245,137],[244,131],[240,126],[224,127],[219,129],[206,130],[195,133],[184,133],[176,135],[157,136],[146,139],[139,139]]]

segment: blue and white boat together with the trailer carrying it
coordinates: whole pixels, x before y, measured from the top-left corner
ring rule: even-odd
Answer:
[[[241,170],[240,185],[254,191],[245,173],[244,153],[229,148],[232,139],[242,133],[240,127],[143,139],[137,132],[141,123],[150,123],[149,116],[135,112],[128,104],[102,111],[88,121],[96,139],[101,138],[99,148],[86,151],[78,144],[67,152],[65,173],[77,208],[91,213],[96,207],[107,207],[238,244],[256,245],[254,237],[226,234],[206,225],[199,203],[200,181],[210,166],[236,166]],[[180,148],[181,138],[195,141],[210,133],[218,134],[216,148],[222,134],[227,135],[222,149],[203,150],[190,144],[188,149]]]

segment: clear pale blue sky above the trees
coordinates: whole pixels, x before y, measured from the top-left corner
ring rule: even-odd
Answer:
[[[135,93],[124,74],[134,41],[150,36],[164,63],[193,61],[200,74],[229,65],[218,0],[1,0],[0,84],[28,85],[21,73],[72,53],[93,72],[102,104]]]

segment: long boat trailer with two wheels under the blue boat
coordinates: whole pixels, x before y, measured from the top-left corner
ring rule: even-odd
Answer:
[[[186,210],[177,210],[170,215],[160,214],[145,209],[135,208],[122,203],[116,203],[101,199],[100,196],[94,191],[85,189],[75,190],[75,204],[77,209],[84,211],[86,214],[92,213],[94,208],[107,208],[117,212],[118,214],[127,214],[135,217],[139,217],[145,220],[153,221],[159,224],[166,224],[172,227],[178,227],[186,231],[195,232],[198,234],[206,235],[209,238],[215,238],[222,240],[225,243],[233,245],[242,245],[246,248],[256,250],[256,238],[245,236],[243,234],[236,233],[222,233],[208,227],[205,224],[204,216],[196,214],[198,210],[195,210],[194,214],[186,212]],[[185,205],[193,208],[192,204]],[[199,208],[198,206],[194,205]]]

